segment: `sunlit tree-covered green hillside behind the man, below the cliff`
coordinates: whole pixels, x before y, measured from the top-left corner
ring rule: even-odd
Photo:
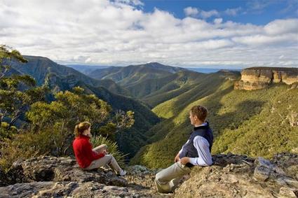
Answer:
[[[189,111],[194,105],[208,108],[208,121],[215,134],[212,153],[264,157],[283,151],[298,153],[297,85],[280,83],[245,91],[233,90],[233,83],[222,78],[216,84],[210,79],[202,87],[194,87],[201,94],[189,90],[156,106],[154,112],[166,119],[148,132],[152,143],[142,148],[132,163],[152,168],[172,164],[191,132]]]

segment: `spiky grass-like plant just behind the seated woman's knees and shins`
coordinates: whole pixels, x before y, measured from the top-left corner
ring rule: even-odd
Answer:
[[[93,148],[100,146],[102,144],[106,144],[108,148],[108,153],[113,155],[120,165],[120,167],[123,167],[125,165],[125,158],[127,154],[122,153],[118,150],[118,145],[115,141],[111,141],[110,139],[107,139],[107,137],[104,136],[93,136],[90,139]]]

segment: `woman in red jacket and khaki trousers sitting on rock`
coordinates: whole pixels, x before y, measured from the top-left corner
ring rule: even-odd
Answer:
[[[108,164],[117,174],[125,176],[126,171],[123,171],[119,167],[113,155],[107,155],[107,145],[103,144],[92,148],[89,141],[91,137],[90,127],[91,124],[89,122],[81,122],[74,129],[76,139],[74,139],[72,146],[79,167],[84,170],[91,170],[104,167]]]

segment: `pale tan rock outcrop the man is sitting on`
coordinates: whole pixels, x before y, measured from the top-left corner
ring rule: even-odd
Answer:
[[[287,153],[271,161],[217,155],[212,167],[195,167],[175,197],[297,197],[297,169],[298,155]]]

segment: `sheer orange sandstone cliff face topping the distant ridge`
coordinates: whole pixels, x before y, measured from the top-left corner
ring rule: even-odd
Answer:
[[[235,83],[235,90],[258,90],[272,83],[291,85],[298,82],[298,68],[251,67],[241,71],[241,80]]]

